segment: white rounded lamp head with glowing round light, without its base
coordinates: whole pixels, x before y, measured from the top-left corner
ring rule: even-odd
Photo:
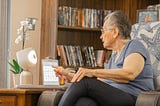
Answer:
[[[37,63],[37,56],[35,50],[32,48],[26,48],[20,50],[16,53],[19,65],[24,70],[29,70],[31,67],[35,66]]]

